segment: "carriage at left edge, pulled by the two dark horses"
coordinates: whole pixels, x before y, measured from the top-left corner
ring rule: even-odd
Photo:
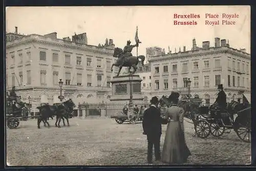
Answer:
[[[10,129],[15,129],[20,120],[29,118],[30,104],[20,101],[19,98],[8,97],[6,101],[6,120]]]

